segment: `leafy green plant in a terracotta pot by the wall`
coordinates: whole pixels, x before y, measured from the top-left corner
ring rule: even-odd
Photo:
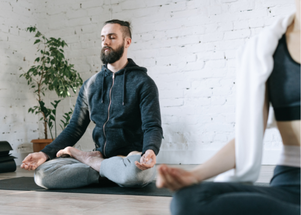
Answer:
[[[53,126],[55,127],[55,138],[57,137],[56,109],[60,101],[66,97],[70,97],[69,90],[71,89],[76,93],[76,89],[83,84],[83,81],[77,71],[73,69],[74,65],[69,64],[65,59],[63,48],[67,46],[64,40],[61,38],[46,38],[41,34],[36,27],[29,27],[27,31],[30,33],[36,33],[36,41],[34,43],[38,45],[39,57],[34,61],[32,66],[27,72],[20,75],[25,77],[28,81],[28,85],[34,89],[37,96],[37,105],[29,108],[28,112],[35,114],[42,114],[40,120],[44,121],[44,135],[45,139],[32,140],[34,152],[40,151],[46,145],[50,144],[54,140]],[[22,69],[22,68],[20,68]],[[42,95],[45,96],[45,91],[55,91],[60,100],[51,102],[52,108],[45,107],[45,102],[42,99]],[[70,117],[73,110],[65,113],[63,117],[65,121],[61,120],[63,126],[62,130],[69,124]],[[49,128],[51,139],[48,138],[47,127]]]

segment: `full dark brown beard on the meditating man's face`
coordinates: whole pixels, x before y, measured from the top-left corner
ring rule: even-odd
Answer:
[[[109,49],[110,51],[105,52],[104,49]],[[101,49],[100,59],[103,64],[113,64],[122,57],[123,52],[124,52],[124,41],[115,50],[112,49],[111,47],[104,46]]]

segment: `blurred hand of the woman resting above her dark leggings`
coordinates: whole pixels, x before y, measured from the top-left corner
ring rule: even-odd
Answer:
[[[158,167],[158,173],[156,181],[158,188],[166,187],[174,191],[199,182],[193,172],[171,168],[165,164]]]

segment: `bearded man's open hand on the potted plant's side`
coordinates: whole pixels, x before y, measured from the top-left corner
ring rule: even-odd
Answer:
[[[35,152],[27,155],[27,157],[22,161],[21,168],[25,170],[35,170],[48,159],[47,154],[44,152]]]

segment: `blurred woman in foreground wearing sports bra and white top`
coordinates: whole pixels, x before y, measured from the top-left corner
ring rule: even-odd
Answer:
[[[300,0],[295,4],[295,14],[238,51],[235,139],[192,171],[159,166],[157,186],[176,191],[172,214],[300,214]],[[269,103],[282,154],[270,186],[252,186]],[[219,183],[200,183],[216,175]]]

